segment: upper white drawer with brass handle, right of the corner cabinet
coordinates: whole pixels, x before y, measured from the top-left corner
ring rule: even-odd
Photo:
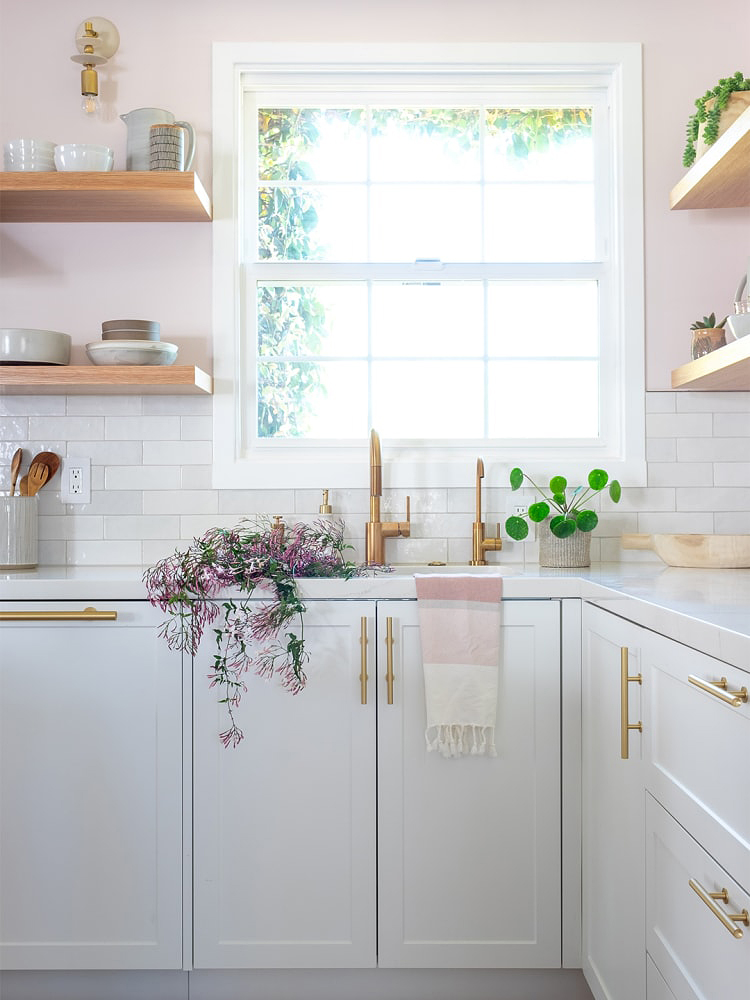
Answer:
[[[750,890],[750,704],[728,704],[717,686],[740,692],[750,674],[662,637],[650,637],[644,665],[648,788]]]

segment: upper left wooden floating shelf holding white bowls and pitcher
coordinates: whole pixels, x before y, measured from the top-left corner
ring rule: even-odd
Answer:
[[[195,173],[0,173],[0,222],[210,222]]]

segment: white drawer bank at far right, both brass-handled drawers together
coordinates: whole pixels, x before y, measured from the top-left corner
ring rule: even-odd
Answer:
[[[648,952],[680,1000],[744,1000],[750,674],[662,636],[644,662]]]

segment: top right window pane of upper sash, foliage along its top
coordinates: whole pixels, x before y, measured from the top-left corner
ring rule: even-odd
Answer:
[[[592,181],[591,108],[488,108],[488,180]]]

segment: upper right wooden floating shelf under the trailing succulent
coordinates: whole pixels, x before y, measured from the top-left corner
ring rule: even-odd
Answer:
[[[750,108],[672,188],[669,207],[750,207]]]

